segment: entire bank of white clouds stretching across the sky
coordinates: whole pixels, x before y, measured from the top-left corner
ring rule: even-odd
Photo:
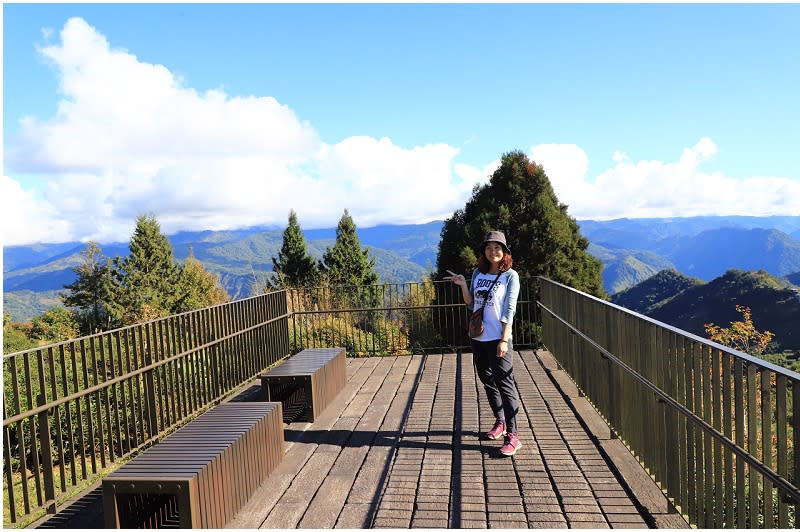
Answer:
[[[305,228],[331,227],[344,208],[359,226],[448,217],[498,161],[458,162],[459,148],[403,147],[389,138],[321,139],[269,96],[203,93],[163,65],[114,49],[80,18],[39,50],[61,91],[55,116],[26,118],[0,181],[3,245],[124,241],[137,214],[167,233],[283,226],[290,208]],[[631,162],[590,181],[575,145],[531,148],[577,218],[800,213],[800,184],[736,181],[703,173],[716,146],[701,139],[675,162]],[[26,189],[22,177],[44,181]]]

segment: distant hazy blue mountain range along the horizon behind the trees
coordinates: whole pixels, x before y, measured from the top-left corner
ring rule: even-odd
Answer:
[[[609,294],[635,286],[662,270],[676,270],[702,281],[731,268],[764,270],[799,284],[800,216],[705,216],[693,218],[579,220],[588,251],[604,265]],[[381,281],[422,279],[436,263],[443,222],[383,225],[358,229],[361,243],[376,258]],[[333,245],[336,230],[311,229],[304,235],[317,259]],[[234,298],[250,295],[272,271],[282,228],[251,227],[229,231],[186,231],[170,235],[176,259],[191,252],[219,274]],[[106,256],[124,256],[127,242],[100,243]],[[74,279],[81,242],[9,246],[3,249],[3,305],[23,321],[58,303],[63,285]],[[794,280],[793,280],[794,279]]]

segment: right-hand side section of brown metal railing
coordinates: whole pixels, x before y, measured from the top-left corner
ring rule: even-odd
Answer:
[[[701,528],[796,526],[800,375],[541,280],[545,346]]]

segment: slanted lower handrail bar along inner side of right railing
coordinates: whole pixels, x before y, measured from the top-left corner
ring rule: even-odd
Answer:
[[[795,501],[796,503],[800,503],[800,489],[798,489],[797,486],[795,486],[794,484],[792,484],[791,482],[789,482],[785,478],[783,478],[780,475],[778,475],[778,473],[776,473],[772,469],[766,467],[763,464],[763,462],[761,462],[760,460],[754,458],[750,453],[748,453],[746,450],[744,450],[741,447],[739,447],[738,445],[736,445],[736,443],[731,441],[729,438],[726,438],[724,435],[722,435],[719,432],[717,432],[717,430],[714,427],[712,427],[711,425],[709,425],[708,423],[706,423],[705,420],[703,420],[702,418],[698,417],[694,412],[692,412],[691,410],[689,410],[688,408],[686,408],[682,404],[680,404],[677,401],[675,401],[668,394],[664,393],[664,391],[662,391],[658,386],[656,386],[655,384],[653,384],[652,382],[647,380],[645,377],[643,377],[641,374],[639,374],[636,370],[634,370],[633,368],[631,368],[630,366],[625,364],[623,361],[621,361],[619,358],[614,356],[614,354],[612,354],[610,351],[605,349],[603,346],[601,346],[600,344],[598,344],[597,342],[595,342],[594,340],[592,340],[591,338],[589,338],[588,336],[583,334],[578,328],[576,328],[571,323],[569,323],[566,320],[564,320],[561,316],[559,316],[558,314],[553,312],[551,309],[547,308],[547,306],[545,306],[541,302],[537,302],[537,304],[538,304],[539,308],[541,308],[542,310],[546,311],[552,317],[554,317],[555,319],[560,321],[563,325],[568,327],[573,333],[577,334],[583,340],[585,340],[587,343],[589,343],[592,347],[594,347],[595,349],[600,351],[600,353],[602,353],[602,355],[604,355],[603,356],[604,359],[609,359],[612,362],[614,362],[617,366],[619,366],[620,368],[625,370],[628,374],[630,374],[631,377],[633,377],[634,379],[639,381],[639,383],[641,383],[646,388],[648,388],[651,392],[653,392],[658,397],[659,402],[665,403],[665,404],[669,405],[670,407],[672,407],[672,409],[677,410],[681,415],[683,415],[684,417],[689,419],[692,423],[694,423],[695,425],[700,427],[703,431],[708,433],[712,438],[714,438],[715,440],[717,440],[721,444],[725,445],[728,449],[730,449],[732,452],[736,453],[738,456],[740,456],[748,464],[750,464],[751,466],[753,466],[756,469],[758,469],[759,472],[762,475],[767,477],[776,486],[778,486],[779,488],[784,490],[786,495],[788,495],[793,501]]]

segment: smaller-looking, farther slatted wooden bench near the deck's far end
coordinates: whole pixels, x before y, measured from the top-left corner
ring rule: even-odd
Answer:
[[[341,347],[304,349],[260,376],[267,401],[280,401],[284,413],[311,421],[347,383],[346,351]]]

